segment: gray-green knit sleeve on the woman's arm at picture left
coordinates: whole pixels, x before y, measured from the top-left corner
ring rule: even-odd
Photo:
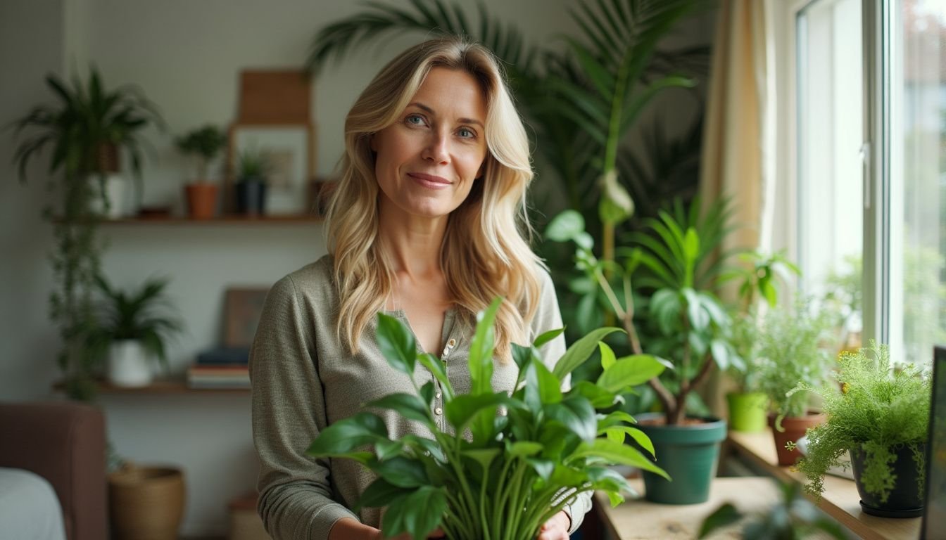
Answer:
[[[258,512],[273,540],[324,540],[342,517],[328,460],[305,454],[327,425],[312,319],[291,277],[266,300],[251,351]]]

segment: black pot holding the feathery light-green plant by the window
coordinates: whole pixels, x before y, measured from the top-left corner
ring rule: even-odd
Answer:
[[[926,444],[922,445],[921,451],[926,452]],[[904,444],[895,448],[893,454],[896,459],[890,466],[896,479],[886,502],[881,502],[880,497],[867,493],[861,483],[866,453],[860,448],[850,450],[850,465],[854,471],[857,493],[861,496],[861,510],[865,514],[880,517],[919,517],[923,514],[923,496],[918,487],[920,476],[917,474],[917,463],[913,461],[913,452]]]

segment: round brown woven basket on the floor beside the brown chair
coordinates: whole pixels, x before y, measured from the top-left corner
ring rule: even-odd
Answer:
[[[184,516],[184,473],[125,466],[109,475],[114,540],[177,540]]]

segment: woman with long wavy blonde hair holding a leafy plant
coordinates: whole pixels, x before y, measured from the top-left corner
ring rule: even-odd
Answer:
[[[495,296],[505,298],[497,391],[516,381],[510,343],[561,326],[551,279],[520,232],[528,230],[528,139],[481,45],[433,40],[382,69],[345,120],[342,171],[326,217],[330,254],[273,286],[252,352],[259,513],[276,540],[380,537],[379,509],[349,510],[371,473],[305,455],[320,429],[362,404],[413,392],[377,348],[378,311],[441,353],[458,393],[470,385],[475,313]],[[550,361],[563,352],[562,338],[542,351]],[[432,378],[417,372],[427,377],[420,384]],[[392,438],[429,436],[393,411],[381,414]],[[568,538],[589,506],[579,497],[539,538]]]

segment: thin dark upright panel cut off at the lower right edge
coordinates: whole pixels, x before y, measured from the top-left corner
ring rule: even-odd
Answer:
[[[926,444],[926,503],[920,538],[946,539],[946,348],[933,350],[933,401]]]

